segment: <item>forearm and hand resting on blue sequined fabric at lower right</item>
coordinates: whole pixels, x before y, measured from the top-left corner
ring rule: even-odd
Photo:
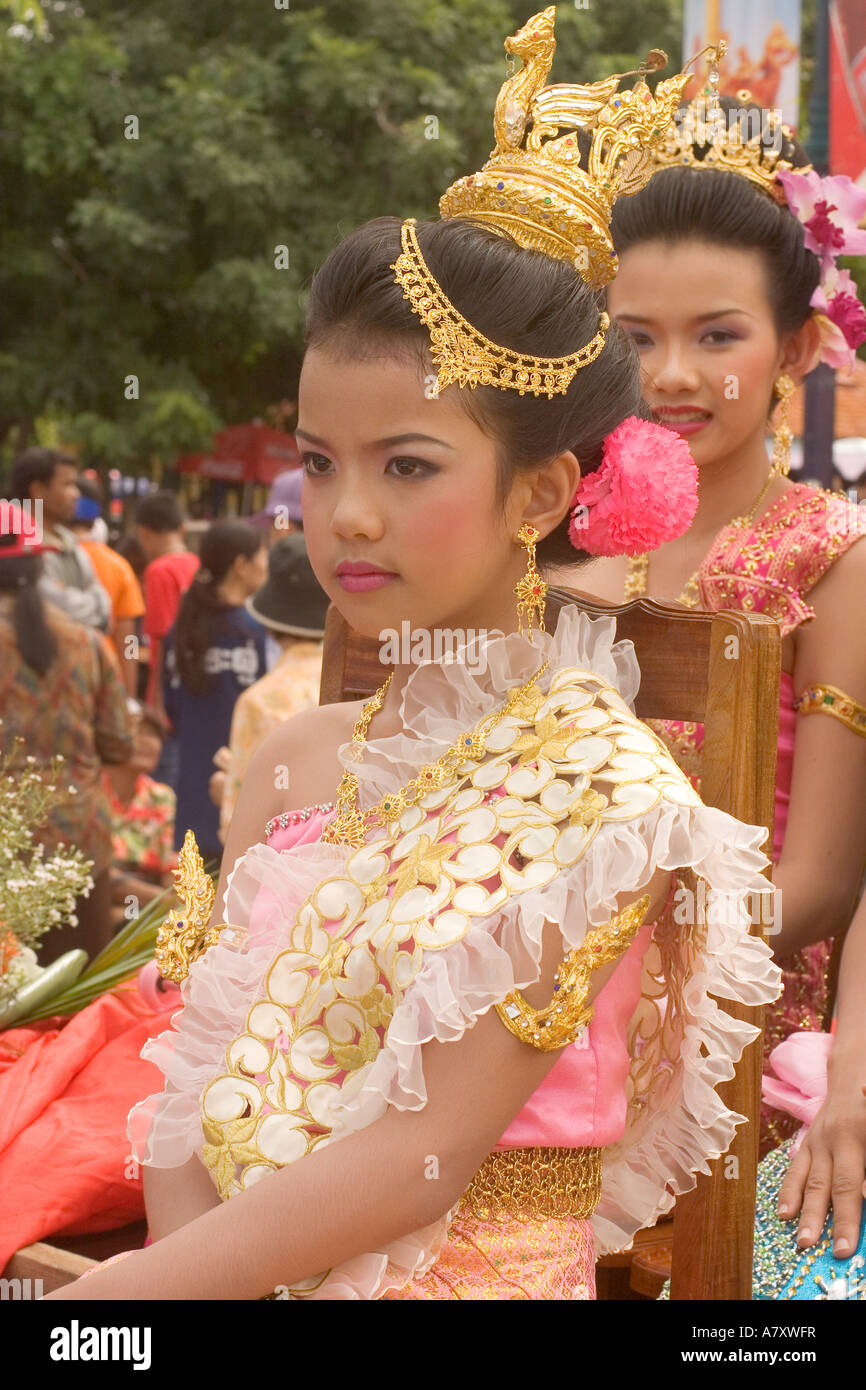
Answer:
[[[845,938],[827,1099],[778,1193],[778,1215],[801,1212],[801,1245],[813,1245],[833,1202],[834,1254],[853,1254],[866,1177],[866,898]]]

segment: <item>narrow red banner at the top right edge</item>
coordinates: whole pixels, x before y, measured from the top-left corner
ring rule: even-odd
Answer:
[[[830,172],[866,188],[866,0],[830,4]]]

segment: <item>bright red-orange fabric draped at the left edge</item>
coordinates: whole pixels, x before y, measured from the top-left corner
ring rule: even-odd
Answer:
[[[143,1218],[126,1116],[160,1090],[139,1052],[175,1012],[177,999],[156,1012],[131,984],[65,1022],[0,1033],[0,1270],[46,1236]]]

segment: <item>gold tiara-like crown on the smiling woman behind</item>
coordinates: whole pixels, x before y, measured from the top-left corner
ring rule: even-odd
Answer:
[[[726,50],[724,39],[710,47],[706,86],[674,117],[664,140],[653,149],[653,172],[695,168],[741,174],[774,202],[787,206],[785,190],[776,175],[780,170],[794,168],[790,160],[781,157],[783,136],[791,139],[791,129],[783,125],[778,111],[753,107],[752,93],[745,89],[737,93],[737,100],[742,107],[752,106],[752,110],[723,110],[719,101],[719,61]],[[760,117],[759,129],[753,129],[755,117]],[[744,136],[744,128],[748,131],[749,126],[752,129]],[[806,174],[810,168],[810,164],[798,165],[796,172]]]

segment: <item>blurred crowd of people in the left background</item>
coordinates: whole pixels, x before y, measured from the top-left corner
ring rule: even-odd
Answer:
[[[93,956],[170,887],[188,830],[218,860],[256,746],[318,703],[328,599],[297,468],[247,518],[188,527],[156,491],[111,538],[99,482],[61,450],[21,453],[3,498],[0,751],[11,776],[64,758],[72,791],[40,840],[93,865],[78,922],[42,944],[47,965]]]

